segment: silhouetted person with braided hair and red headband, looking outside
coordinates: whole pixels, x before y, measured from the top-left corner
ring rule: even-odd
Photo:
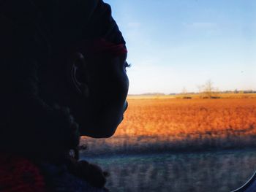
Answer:
[[[102,0],[0,0],[0,191],[105,191],[80,135],[127,109],[127,49]],[[71,153],[73,152],[73,153]]]

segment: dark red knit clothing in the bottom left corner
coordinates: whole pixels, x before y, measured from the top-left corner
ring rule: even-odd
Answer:
[[[37,166],[26,158],[0,153],[0,191],[45,192],[45,182]]]

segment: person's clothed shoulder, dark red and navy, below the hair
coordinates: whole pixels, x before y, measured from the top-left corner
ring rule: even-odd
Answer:
[[[0,154],[0,191],[105,192],[75,175],[65,166],[34,164],[16,155]]]

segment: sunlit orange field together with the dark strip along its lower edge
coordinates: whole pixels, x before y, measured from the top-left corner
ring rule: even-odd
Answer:
[[[94,150],[256,147],[256,99],[128,99],[116,134]]]

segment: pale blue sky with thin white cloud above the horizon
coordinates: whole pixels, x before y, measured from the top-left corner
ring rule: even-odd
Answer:
[[[127,42],[129,94],[256,90],[255,0],[105,0]]]

